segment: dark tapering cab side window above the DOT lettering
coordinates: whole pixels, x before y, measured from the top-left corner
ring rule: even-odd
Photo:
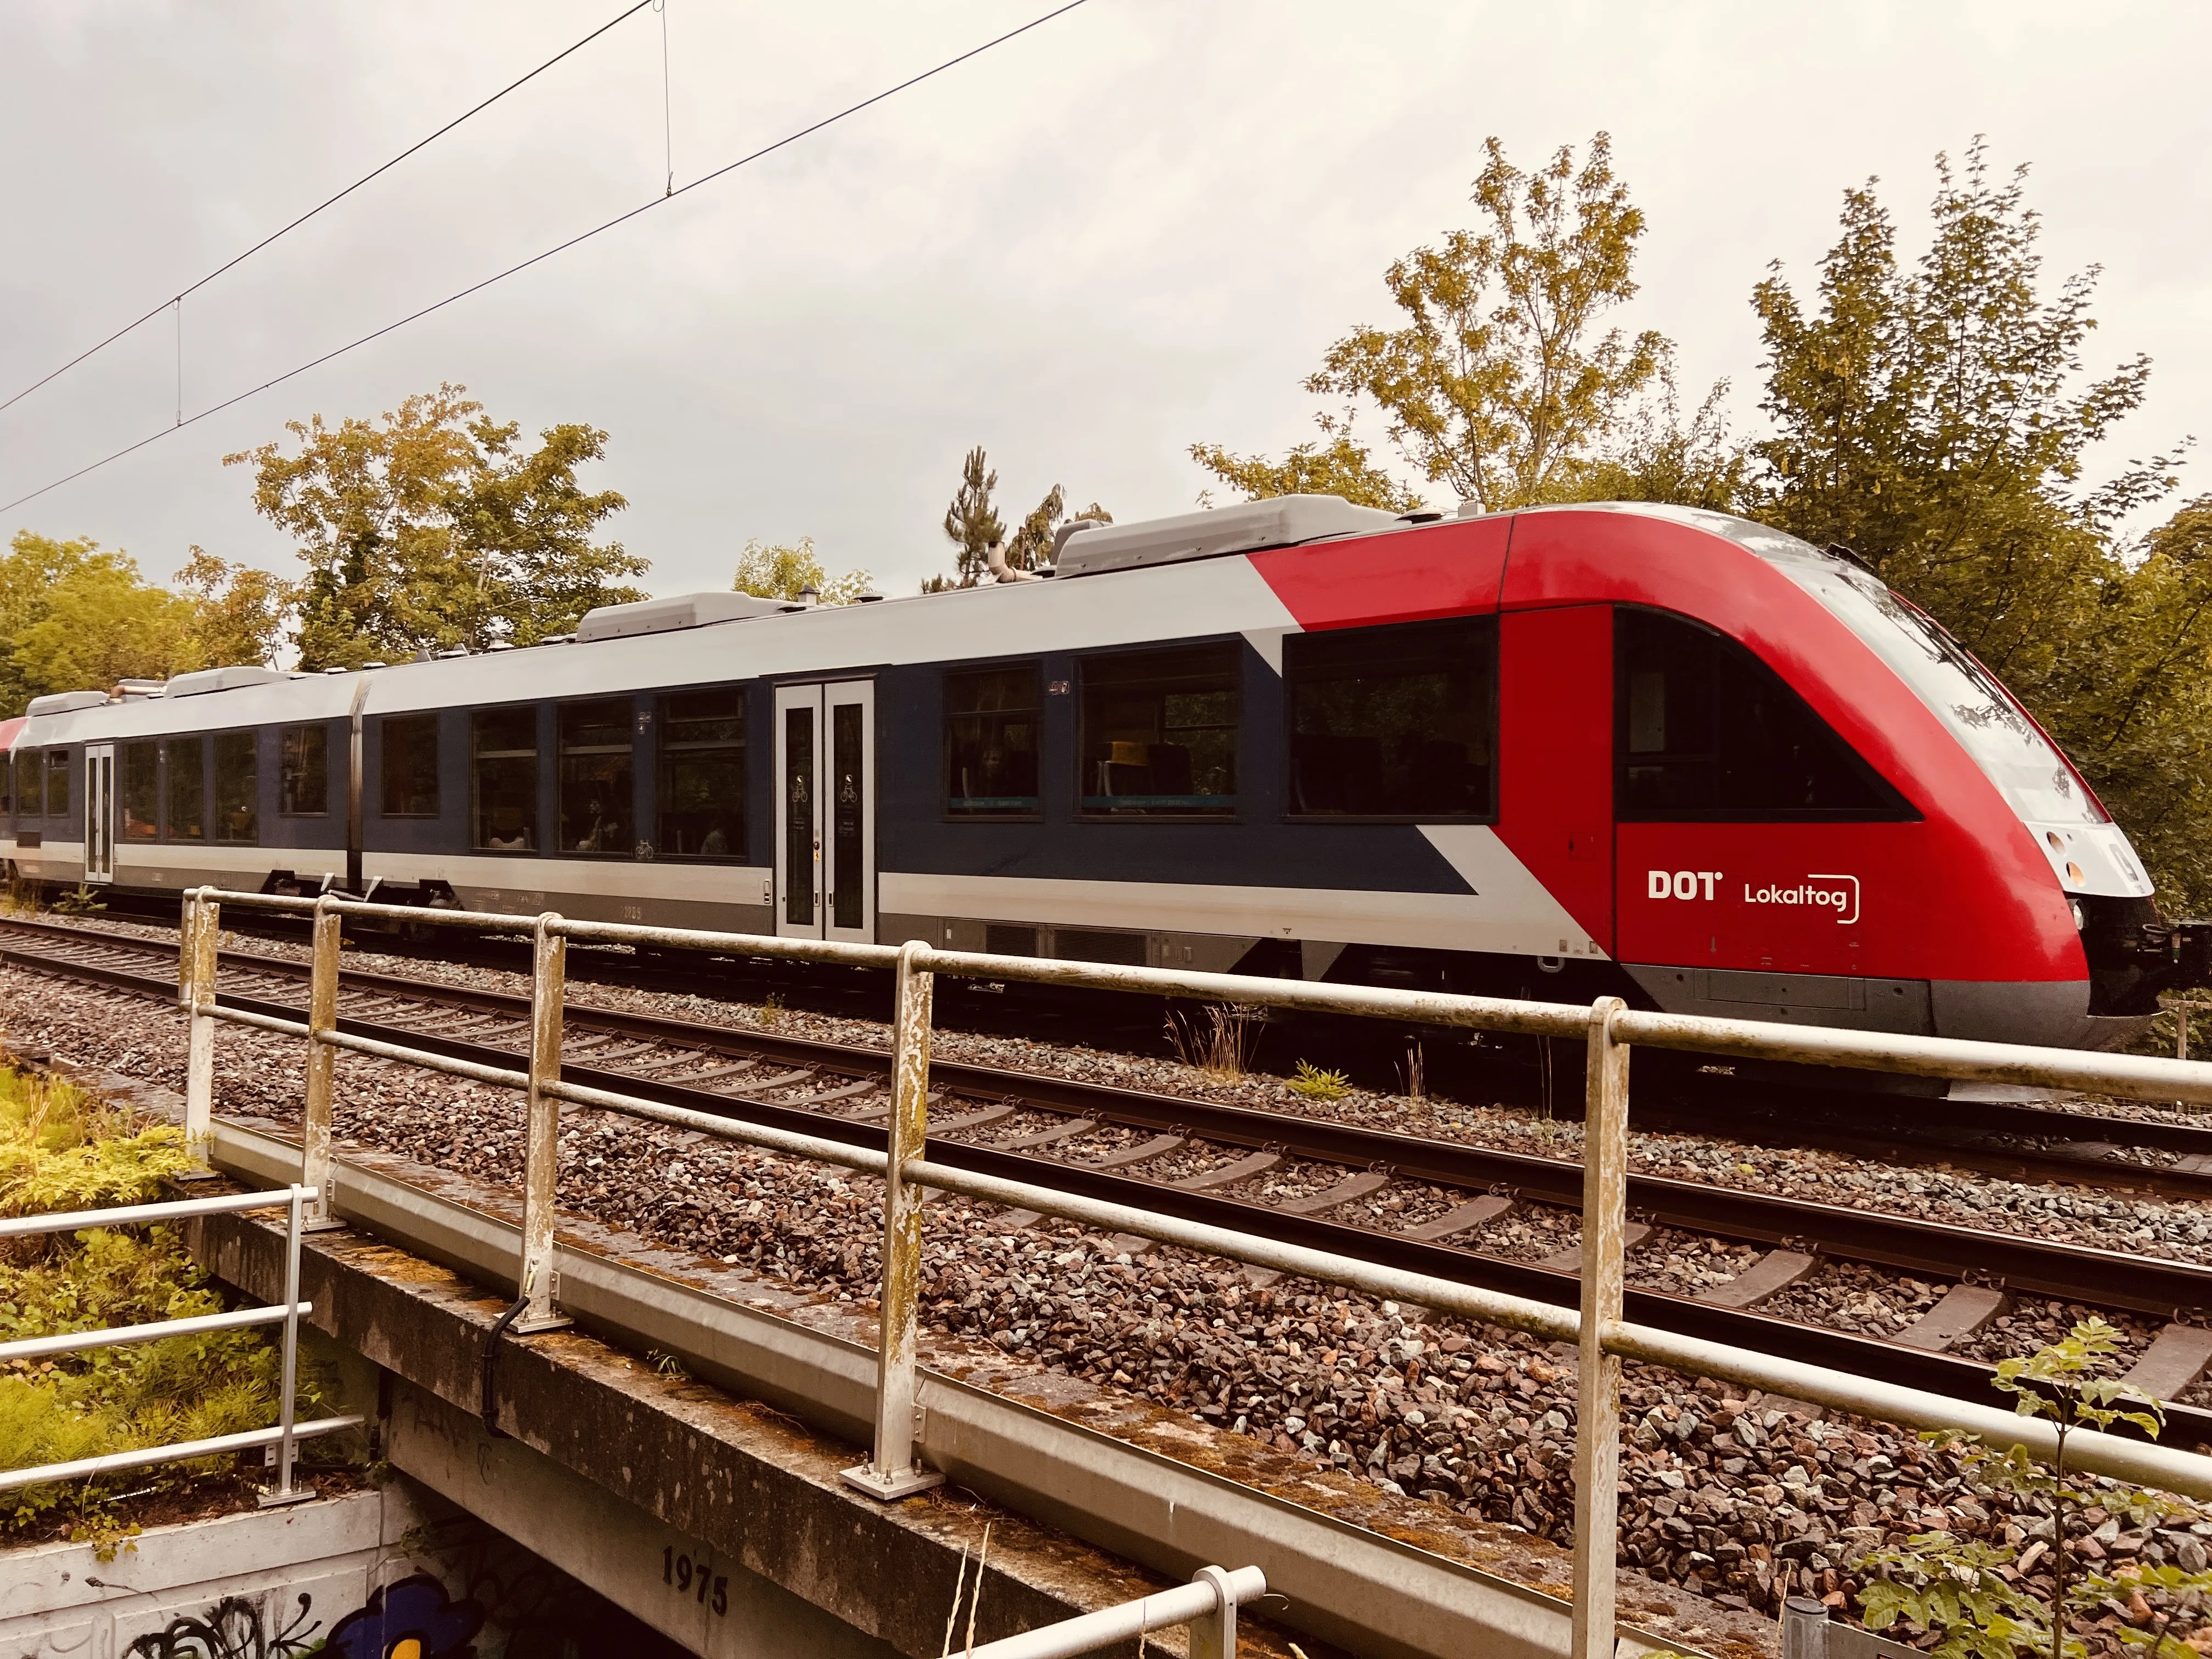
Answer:
[[[1745,646],[1659,611],[1613,617],[1619,818],[1913,816]]]

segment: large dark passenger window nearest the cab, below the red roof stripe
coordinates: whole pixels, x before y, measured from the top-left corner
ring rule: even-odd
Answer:
[[[1493,814],[1495,617],[1290,635],[1283,684],[1294,816]]]

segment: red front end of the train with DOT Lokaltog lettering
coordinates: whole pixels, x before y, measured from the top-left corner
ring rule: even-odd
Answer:
[[[1845,551],[1632,513],[1730,544],[1701,555],[1661,531],[1635,582],[1756,653],[1843,741],[1840,759],[1796,754],[1805,810],[1686,823],[1663,792],[1639,805],[1639,739],[1661,763],[1668,743],[1639,677],[1666,664],[1621,630],[1619,960],[1661,1006],[1767,993],[1767,1018],[2106,1048],[2150,1024],[2163,989],[2205,980],[2212,925],[2159,916],[2126,832],[1940,624]],[[1725,719],[1741,734],[1770,714],[1739,692]]]

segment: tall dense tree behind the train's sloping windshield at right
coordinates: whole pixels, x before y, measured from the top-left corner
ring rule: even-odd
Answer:
[[[2090,487],[2088,458],[2135,411],[2150,361],[2084,369],[2097,270],[2044,294],[2026,170],[1978,139],[1936,161],[1933,237],[1902,265],[1874,181],[1847,190],[1818,307],[1776,268],[1754,511],[1847,544],[1986,661],[2141,838],[2170,902],[2212,900],[2212,515],[2141,546],[2126,515],[2177,482],[2179,449]]]

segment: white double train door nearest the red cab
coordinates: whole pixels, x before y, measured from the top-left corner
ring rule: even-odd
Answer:
[[[876,940],[876,686],[776,686],[776,933]]]

